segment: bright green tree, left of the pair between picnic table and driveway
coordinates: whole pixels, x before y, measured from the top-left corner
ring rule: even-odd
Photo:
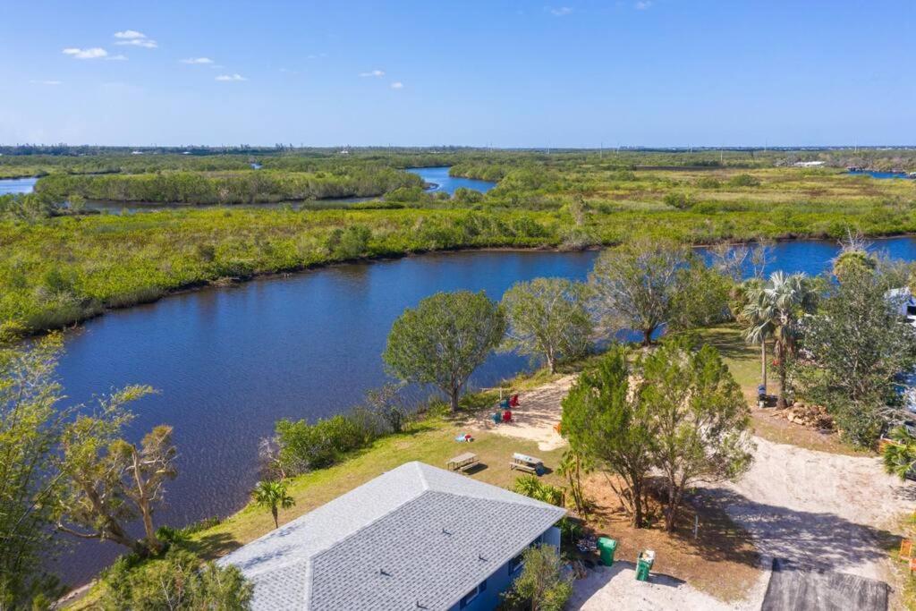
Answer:
[[[608,483],[633,524],[642,527],[646,478],[656,441],[654,422],[642,398],[644,384],[631,373],[624,348],[612,347],[598,366],[579,376],[563,399],[561,431],[574,452],[605,475],[620,477],[623,486],[610,476]]]

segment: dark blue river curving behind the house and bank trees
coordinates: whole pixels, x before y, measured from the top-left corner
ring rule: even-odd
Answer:
[[[891,256],[916,259],[916,241],[878,241]],[[773,268],[816,274],[837,248],[829,242],[776,246]],[[60,362],[66,393],[89,401],[129,383],[158,395],[134,405],[139,438],[160,423],[175,428],[179,477],[158,523],[183,525],[241,507],[256,481],[259,438],[280,418],[314,420],[358,402],[387,378],[380,355],[391,323],[439,290],[485,290],[493,299],[518,280],[584,279],[595,252],[469,252],[327,267],[234,288],[206,289],[112,311],[69,335]],[[493,355],[474,375],[489,386],[527,368]],[[61,560],[71,583],[87,579],[120,550],[95,541]]]

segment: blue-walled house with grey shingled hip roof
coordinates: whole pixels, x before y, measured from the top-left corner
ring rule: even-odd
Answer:
[[[256,611],[493,609],[565,510],[432,467],[379,475],[221,559]]]

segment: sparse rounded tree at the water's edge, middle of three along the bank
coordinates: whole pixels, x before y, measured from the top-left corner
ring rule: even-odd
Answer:
[[[509,330],[506,347],[538,355],[552,373],[562,357],[584,355],[592,334],[583,284],[565,278],[518,282],[503,296]]]

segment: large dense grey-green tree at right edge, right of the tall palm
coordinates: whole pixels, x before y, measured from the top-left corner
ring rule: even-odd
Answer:
[[[845,439],[871,447],[900,414],[895,377],[912,368],[916,332],[901,315],[905,292],[893,271],[848,267],[820,311],[805,321],[802,366],[806,396],[834,417]]]

